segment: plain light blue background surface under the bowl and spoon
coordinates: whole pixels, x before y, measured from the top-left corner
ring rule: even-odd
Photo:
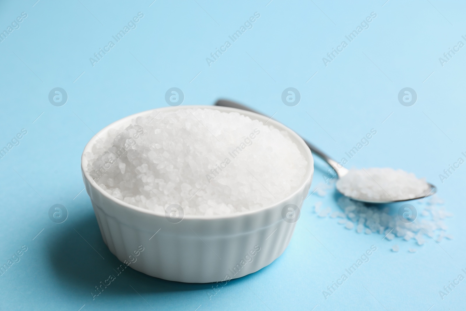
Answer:
[[[439,296],[449,281],[466,276],[466,166],[439,180],[466,152],[466,47],[443,67],[439,62],[458,41],[466,43],[464,3],[35,1],[0,3],[0,30],[27,14],[0,42],[1,147],[27,130],[20,145],[0,159],[0,263],[27,246],[21,261],[0,276],[1,310],[464,308],[466,281],[443,300]],[[144,17],[137,27],[93,67],[89,57],[138,12]],[[253,28],[209,67],[206,57],[254,12],[260,18]],[[377,17],[370,27],[326,67],[322,57],[371,12]],[[55,87],[69,97],[61,107],[48,101]],[[167,106],[164,95],[171,87],[183,90],[183,105],[226,97],[275,113],[336,159],[376,129],[347,167],[390,166],[426,177],[455,215],[445,221],[454,240],[418,247],[414,240],[357,234],[335,219],[318,218],[312,207],[322,199],[313,194],[284,254],[229,282],[211,299],[211,284],[168,282],[130,269],[93,300],[90,292],[119,261],[103,243],[88,195],[80,193],[82,149],[107,124]],[[288,87],[301,93],[295,107],[281,102]],[[404,87],[417,92],[411,107],[397,100]],[[316,160],[314,187],[325,170]],[[332,193],[323,200],[338,209]],[[61,224],[48,217],[54,204],[69,211]],[[413,204],[419,211],[424,207]],[[393,244],[400,246],[398,253],[390,251]],[[322,290],[371,245],[377,251],[370,261],[326,300]],[[409,253],[411,247],[418,252]]]

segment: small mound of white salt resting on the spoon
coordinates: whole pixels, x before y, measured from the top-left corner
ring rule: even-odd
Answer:
[[[360,200],[410,200],[426,195],[430,186],[412,173],[392,168],[351,169],[336,182],[342,194]]]

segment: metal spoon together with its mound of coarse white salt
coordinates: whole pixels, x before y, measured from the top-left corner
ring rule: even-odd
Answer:
[[[220,99],[217,106],[237,108],[260,114],[241,104]],[[414,174],[392,168],[368,168],[362,170],[344,168],[325,153],[304,140],[311,152],[327,162],[335,170],[339,180],[336,189],[343,195],[366,203],[391,203],[425,198],[437,192],[437,188]]]

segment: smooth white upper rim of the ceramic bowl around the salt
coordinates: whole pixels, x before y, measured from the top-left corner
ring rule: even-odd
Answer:
[[[98,131],[92,138],[90,138],[89,142],[84,147],[84,150],[83,150],[82,155],[81,155],[81,170],[82,170],[82,174],[83,174],[84,178],[89,182],[89,185],[91,187],[94,187],[105,198],[113,201],[115,204],[117,204],[119,206],[123,206],[123,207],[129,208],[129,209],[131,209],[131,210],[133,210],[135,212],[139,212],[139,213],[143,213],[143,214],[150,214],[150,215],[153,215],[153,216],[165,217],[165,214],[158,213],[156,211],[153,211],[153,210],[150,210],[150,209],[147,209],[147,208],[144,208],[144,207],[138,207],[136,205],[126,203],[123,200],[119,200],[119,199],[115,198],[114,196],[112,196],[111,194],[108,194],[106,191],[104,191],[93,180],[93,178],[90,176],[89,172],[87,171],[87,168],[85,166],[87,166],[89,161],[85,158],[84,154],[86,152],[89,152],[89,151],[92,150],[92,147],[95,145],[97,139],[100,139],[99,136],[101,136],[103,133],[107,134],[107,132],[110,129],[119,128],[121,126],[124,126],[124,124],[129,125],[132,122],[132,120],[137,118],[137,117],[150,114],[153,111],[162,112],[162,111],[176,111],[178,109],[198,109],[198,108],[199,109],[213,109],[213,110],[218,110],[218,111],[221,111],[221,112],[238,112],[238,113],[240,113],[240,114],[242,114],[244,116],[250,117],[250,118],[254,117],[254,119],[259,120],[262,123],[264,122],[265,119],[267,119],[267,121],[265,121],[265,122],[269,123],[268,125],[273,125],[275,128],[277,128],[279,130],[287,131],[288,135],[295,138],[295,141],[293,141],[294,143],[296,143],[296,141],[297,141],[297,142],[299,142],[301,144],[301,147],[302,147],[301,149],[303,149],[304,153],[305,153],[305,154],[303,154],[303,156],[307,160],[308,164],[307,164],[307,167],[306,167],[306,174],[304,175],[304,177],[302,179],[301,185],[299,187],[297,187],[295,189],[295,191],[293,191],[291,194],[289,194],[288,196],[286,196],[285,198],[281,199],[278,202],[275,202],[273,204],[270,204],[270,205],[267,205],[265,207],[261,207],[259,209],[255,209],[255,210],[252,210],[252,211],[240,212],[240,213],[235,213],[235,214],[222,214],[222,215],[209,215],[209,216],[185,214],[183,216],[182,220],[189,220],[189,219],[192,219],[192,220],[229,219],[229,218],[236,218],[236,217],[240,217],[240,216],[259,214],[259,213],[262,213],[262,212],[264,212],[266,210],[273,209],[276,206],[280,206],[284,202],[290,200],[296,194],[298,194],[298,193],[300,193],[302,191],[302,188],[305,187],[308,180],[310,180],[310,182],[312,182],[312,177],[313,177],[313,173],[314,173],[314,158],[312,156],[312,153],[311,153],[308,145],[306,145],[304,140],[298,134],[296,134],[295,131],[291,130],[290,128],[288,128],[284,124],[281,124],[280,122],[275,121],[272,118],[268,118],[266,116],[263,116],[261,114],[255,113],[255,112],[244,111],[244,110],[237,109],[237,108],[215,106],[215,105],[185,105],[185,106],[160,107],[160,108],[155,108],[155,109],[150,109],[150,110],[146,110],[146,111],[137,112],[137,113],[134,113],[132,115],[123,117],[121,119],[118,119],[115,122],[112,122],[111,124],[105,126],[102,130]],[[300,150],[299,147],[298,147],[298,150]],[[301,152],[301,150],[300,150],[300,152]],[[301,209],[301,207],[299,207],[299,208]]]

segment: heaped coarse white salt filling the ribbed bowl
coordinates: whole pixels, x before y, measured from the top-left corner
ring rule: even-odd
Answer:
[[[102,138],[84,155],[89,174],[115,198],[159,213],[170,204],[196,215],[257,210],[306,174],[288,133],[238,112],[153,112]]]

